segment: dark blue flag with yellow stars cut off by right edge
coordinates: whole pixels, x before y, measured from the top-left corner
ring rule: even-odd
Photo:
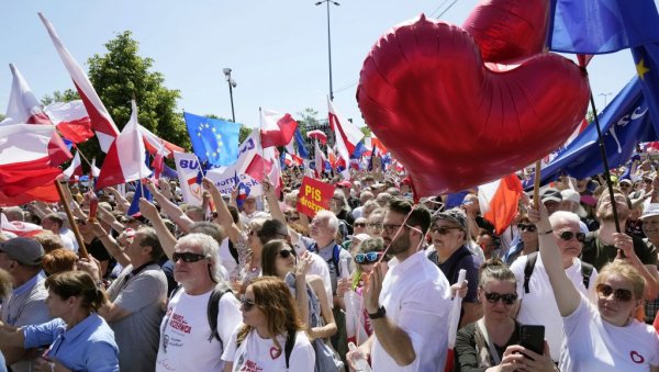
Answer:
[[[659,133],[659,44],[648,44],[632,48],[636,72],[640,79],[643,95],[646,99],[655,133]]]

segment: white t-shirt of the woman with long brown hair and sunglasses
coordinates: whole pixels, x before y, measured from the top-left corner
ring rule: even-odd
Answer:
[[[241,325],[242,326],[242,325]],[[233,362],[233,371],[313,371],[315,367],[315,352],[303,331],[298,331],[295,345],[289,358],[289,369],[286,369],[286,336],[277,336],[281,351],[275,348],[271,339],[261,338],[256,330],[252,330],[236,349],[238,327],[232,335],[226,346],[222,360]]]

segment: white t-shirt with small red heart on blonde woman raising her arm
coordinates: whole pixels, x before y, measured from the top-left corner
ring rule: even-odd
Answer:
[[[563,317],[563,328],[561,371],[630,372],[659,365],[659,335],[651,326],[608,324],[584,295],[574,313]]]

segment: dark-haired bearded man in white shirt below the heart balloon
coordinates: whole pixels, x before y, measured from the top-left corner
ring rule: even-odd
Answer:
[[[420,250],[431,213],[392,200],[382,238],[395,258],[377,263],[364,288],[373,335],[348,353],[370,357],[373,371],[443,371],[448,345],[448,281]]]

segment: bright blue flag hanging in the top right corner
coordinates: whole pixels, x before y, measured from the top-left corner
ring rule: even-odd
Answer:
[[[605,54],[659,42],[652,0],[551,0],[550,50]]]

